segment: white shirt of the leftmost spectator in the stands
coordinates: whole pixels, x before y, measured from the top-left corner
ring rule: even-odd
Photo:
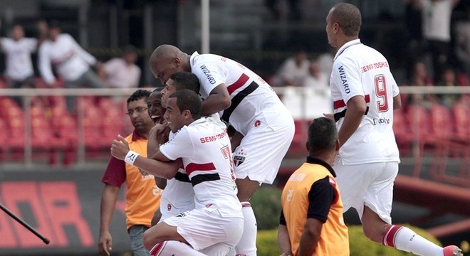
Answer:
[[[13,80],[25,80],[34,75],[31,53],[36,50],[35,38],[1,38],[1,48],[6,55],[6,75]]]

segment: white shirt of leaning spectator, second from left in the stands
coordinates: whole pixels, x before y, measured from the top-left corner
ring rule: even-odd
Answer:
[[[52,65],[66,81],[80,78],[96,63],[95,57],[81,48],[69,34],[60,34],[56,41],[44,41],[39,48],[39,71],[43,80],[55,82]]]

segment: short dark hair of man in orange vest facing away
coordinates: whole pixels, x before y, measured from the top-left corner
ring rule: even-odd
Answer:
[[[318,117],[308,127],[309,153],[318,155],[335,149],[338,140],[336,124],[332,119]]]

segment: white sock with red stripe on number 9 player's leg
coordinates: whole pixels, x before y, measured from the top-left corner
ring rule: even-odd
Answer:
[[[415,255],[443,255],[442,247],[399,225],[390,226],[382,238],[382,244]]]

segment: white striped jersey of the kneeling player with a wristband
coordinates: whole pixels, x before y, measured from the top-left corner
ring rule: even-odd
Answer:
[[[224,217],[243,216],[224,127],[197,119],[160,146],[160,152],[171,160],[182,158],[194,189],[196,209],[216,206]]]

